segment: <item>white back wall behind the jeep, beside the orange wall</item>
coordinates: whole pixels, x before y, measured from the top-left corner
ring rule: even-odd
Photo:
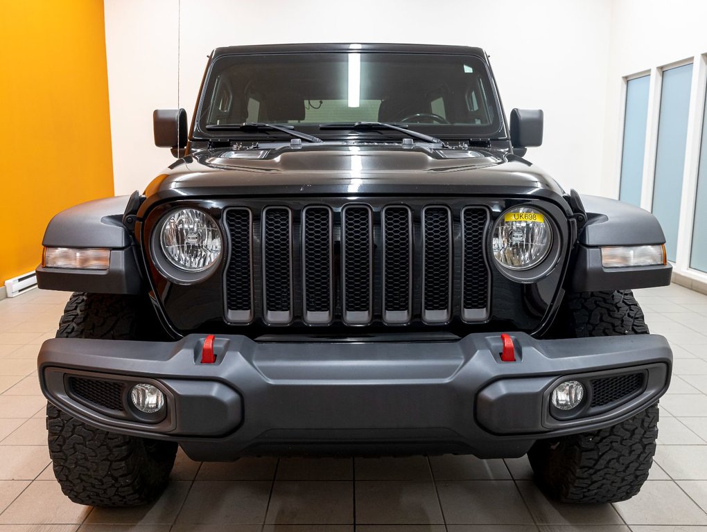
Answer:
[[[545,112],[529,158],[566,189],[600,193],[611,11],[611,0],[105,0],[116,194],[171,162],[151,117],[177,106],[177,78],[191,118],[211,49],[279,42],[483,47],[506,112]]]

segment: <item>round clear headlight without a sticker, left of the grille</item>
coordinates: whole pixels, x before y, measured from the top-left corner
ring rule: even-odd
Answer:
[[[204,271],[221,256],[221,231],[208,214],[183,208],[165,218],[160,245],[168,261],[180,270]]]

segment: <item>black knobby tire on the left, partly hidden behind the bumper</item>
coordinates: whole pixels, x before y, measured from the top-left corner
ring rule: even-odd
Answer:
[[[75,293],[59,321],[57,338],[138,340],[161,336],[141,297]],[[164,490],[177,444],[106,432],[47,403],[49,456],[64,495],[78,504],[126,507]]]

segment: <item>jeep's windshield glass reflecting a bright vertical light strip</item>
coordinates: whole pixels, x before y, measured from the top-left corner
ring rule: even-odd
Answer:
[[[218,57],[197,116],[195,136],[201,138],[282,135],[235,127],[245,122],[290,124],[322,138],[404,136],[391,129],[322,128],[324,124],[409,124],[439,138],[489,138],[502,125],[481,59],[380,52]]]

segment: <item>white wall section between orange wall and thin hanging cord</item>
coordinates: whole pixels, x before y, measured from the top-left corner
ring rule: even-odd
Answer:
[[[131,194],[170,164],[169,150],[155,147],[152,112],[178,107],[179,13],[175,0],[104,6],[115,194]]]

